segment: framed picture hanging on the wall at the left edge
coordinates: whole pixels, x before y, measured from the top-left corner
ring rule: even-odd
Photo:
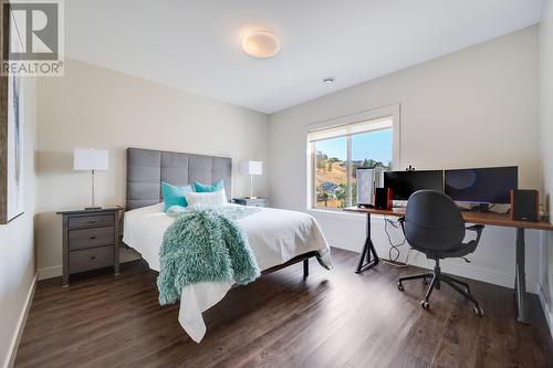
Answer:
[[[0,7],[0,59],[7,59],[10,25],[6,7]],[[21,76],[0,76],[0,223],[8,223],[23,213],[23,117]]]

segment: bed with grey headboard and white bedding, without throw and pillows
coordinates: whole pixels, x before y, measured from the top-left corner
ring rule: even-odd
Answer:
[[[230,200],[231,172],[230,158],[128,148],[123,242],[140,253],[152,270],[159,272],[159,248],[165,231],[175,221],[163,211],[161,181],[184,186],[222,179]],[[315,256],[323,266],[332,267],[328,243],[309,214],[262,208],[237,222],[248,238],[262,274],[304,262],[306,276],[309,259]],[[195,341],[201,341],[207,330],[202,312],[221,301],[232,286],[233,282],[228,281],[182,287],[178,320]]]

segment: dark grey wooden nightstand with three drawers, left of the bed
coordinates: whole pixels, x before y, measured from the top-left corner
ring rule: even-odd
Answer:
[[[60,211],[63,223],[63,286],[70,274],[113,266],[119,273],[122,207]]]

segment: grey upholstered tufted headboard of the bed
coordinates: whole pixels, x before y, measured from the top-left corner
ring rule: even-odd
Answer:
[[[192,154],[127,148],[127,211],[163,201],[161,181],[186,186],[225,180],[231,196],[232,160]]]

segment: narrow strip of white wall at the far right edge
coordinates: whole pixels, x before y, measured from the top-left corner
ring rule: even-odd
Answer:
[[[550,221],[553,196],[553,1],[546,0],[540,25],[540,136],[543,175],[543,192]],[[542,234],[541,296],[545,315],[553,335],[553,232]]]

